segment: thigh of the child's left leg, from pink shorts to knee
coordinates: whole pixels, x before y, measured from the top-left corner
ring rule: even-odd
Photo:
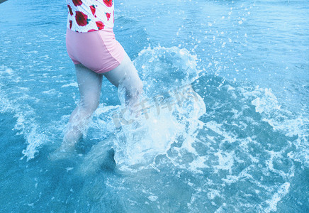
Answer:
[[[75,65],[75,68],[82,104],[99,104],[103,76],[82,64]]]

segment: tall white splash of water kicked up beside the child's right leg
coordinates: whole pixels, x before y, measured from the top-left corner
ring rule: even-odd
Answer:
[[[147,166],[179,138],[191,137],[198,128],[198,118],[206,112],[203,99],[191,87],[200,70],[196,56],[188,50],[147,48],[134,62],[145,89],[139,103],[140,117],[130,117],[124,107],[114,116],[116,124],[122,124],[114,143],[116,163],[123,169]],[[120,100],[124,95],[119,92]]]

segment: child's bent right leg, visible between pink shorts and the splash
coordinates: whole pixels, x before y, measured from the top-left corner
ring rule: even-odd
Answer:
[[[137,100],[142,94],[142,81],[127,53],[125,53],[121,64],[115,69],[106,72],[104,76],[116,87],[124,87],[125,104],[128,107],[137,104]]]

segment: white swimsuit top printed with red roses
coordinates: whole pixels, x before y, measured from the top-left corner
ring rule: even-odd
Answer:
[[[67,28],[79,33],[113,28],[113,0],[67,0]]]

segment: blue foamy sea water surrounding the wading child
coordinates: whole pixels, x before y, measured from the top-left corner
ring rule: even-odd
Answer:
[[[308,1],[116,1],[153,107],[117,128],[104,80],[82,156],[50,162],[79,101],[66,16],[0,5],[0,212],[309,211]]]

